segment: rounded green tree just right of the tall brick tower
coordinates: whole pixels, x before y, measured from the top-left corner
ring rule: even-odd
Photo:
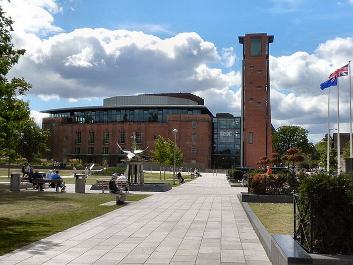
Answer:
[[[280,155],[286,154],[287,150],[293,147],[299,148],[304,153],[310,153],[313,145],[308,140],[308,133],[308,130],[300,126],[281,126],[273,133],[273,147]]]

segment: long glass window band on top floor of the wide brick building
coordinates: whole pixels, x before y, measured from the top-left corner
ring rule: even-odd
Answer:
[[[168,114],[203,114],[200,109],[119,109],[52,113],[50,118],[68,117],[69,123],[166,122]]]

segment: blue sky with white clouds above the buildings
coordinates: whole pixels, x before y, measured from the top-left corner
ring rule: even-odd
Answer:
[[[23,96],[41,126],[56,108],[103,98],[190,92],[216,113],[241,115],[242,44],[270,44],[271,119],[298,125],[309,140],[327,132],[328,89],[320,83],[353,59],[353,0],[11,0],[12,37],[26,54],[10,71],[32,88]],[[330,128],[337,128],[337,87]],[[349,78],[339,78],[340,132],[349,132]]]

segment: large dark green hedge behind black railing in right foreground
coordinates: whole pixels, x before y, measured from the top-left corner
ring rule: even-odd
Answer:
[[[353,254],[353,182],[349,176],[317,174],[302,177],[299,209],[309,235],[309,199],[312,201],[313,252]]]

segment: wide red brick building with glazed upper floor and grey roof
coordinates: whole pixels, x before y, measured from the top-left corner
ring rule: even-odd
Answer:
[[[175,95],[175,96],[174,96]],[[130,150],[135,140],[149,148],[158,135],[174,139],[182,149],[186,164],[210,168],[212,152],[212,117],[203,99],[190,93],[116,96],[106,98],[99,107],[43,111],[43,129],[51,136],[49,159],[67,162],[80,158],[84,163],[117,165],[124,158],[116,142]]]

